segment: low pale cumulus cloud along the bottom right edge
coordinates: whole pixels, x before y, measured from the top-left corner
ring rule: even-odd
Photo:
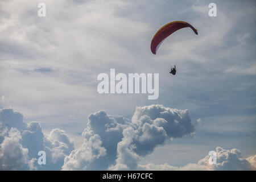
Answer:
[[[141,170],[255,170],[255,155],[243,159],[241,152],[236,148],[232,150],[225,150],[221,147],[216,147],[217,164],[209,164],[210,156],[205,156],[204,159],[199,160],[196,164],[187,164],[183,167],[170,166],[168,164],[146,164],[139,165]]]

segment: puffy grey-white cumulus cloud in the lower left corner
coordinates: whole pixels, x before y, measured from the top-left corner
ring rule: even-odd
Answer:
[[[13,109],[0,110],[0,134],[1,169],[58,170],[74,149],[73,140],[63,130],[53,129],[46,135],[38,122],[24,123],[23,115]],[[40,166],[36,159],[42,150],[47,164]]]

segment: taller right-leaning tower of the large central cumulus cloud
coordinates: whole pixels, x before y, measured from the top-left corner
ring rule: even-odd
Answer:
[[[117,147],[116,164],[110,169],[136,169],[140,156],[150,154],[167,139],[193,132],[188,110],[163,105],[137,107],[130,126],[123,130],[123,139]]]

